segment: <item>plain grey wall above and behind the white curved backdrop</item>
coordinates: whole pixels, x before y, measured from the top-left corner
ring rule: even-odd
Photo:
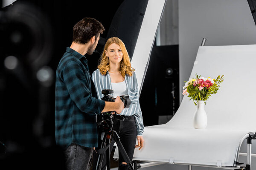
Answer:
[[[256,44],[247,0],[179,0],[179,76],[182,92],[203,38],[205,45]],[[182,94],[180,93],[180,102]]]

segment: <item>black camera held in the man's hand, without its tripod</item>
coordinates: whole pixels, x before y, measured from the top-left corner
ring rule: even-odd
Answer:
[[[102,94],[104,95],[102,97],[102,100],[106,101],[106,102],[115,102],[116,98],[113,98],[113,96],[109,95],[109,94],[113,94],[114,91],[111,89],[104,89],[102,90]],[[129,98],[129,95],[122,95],[120,96],[120,99],[122,100],[122,102],[125,105],[125,108],[129,108],[130,104],[131,104],[131,100]]]

